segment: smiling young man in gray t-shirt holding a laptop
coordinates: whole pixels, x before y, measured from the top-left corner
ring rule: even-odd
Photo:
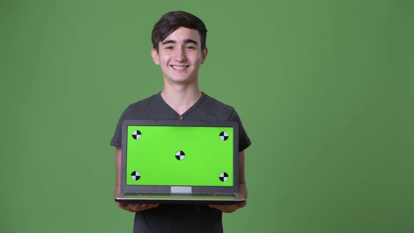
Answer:
[[[183,11],[166,13],[152,30],[152,59],[161,67],[161,93],[129,105],[116,126],[111,145],[116,147],[116,187],[121,171],[121,123],[125,119],[201,120],[239,122],[239,187],[247,198],[244,152],[251,141],[233,107],[199,90],[199,67],[206,61],[207,29],[196,16]],[[231,213],[246,205],[123,204],[136,212],[134,232],[222,232],[222,212]]]

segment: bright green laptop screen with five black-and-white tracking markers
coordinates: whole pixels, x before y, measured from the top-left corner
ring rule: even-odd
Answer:
[[[233,128],[128,126],[126,185],[232,186]]]

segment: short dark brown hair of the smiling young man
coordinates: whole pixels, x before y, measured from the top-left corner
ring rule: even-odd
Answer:
[[[207,29],[203,21],[195,15],[185,11],[170,11],[155,23],[152,29],[152,46],[158,51],[159,42],[167,38],[178,27],[187,27],[189,29],[196,29],[201,38],[201,51],[206,48]]]

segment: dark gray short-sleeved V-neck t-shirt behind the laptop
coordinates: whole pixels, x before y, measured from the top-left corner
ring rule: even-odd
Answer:
[[[202,93],[201,98],[180,115],[161,93],[129,105],[116,125],[110,145],[121,147],[121,126],[125,119],[239,122],[239,151],[251,145],[239,115],[233,107]],[[161,204],[135,214],[134,232],[222,232],[222,212],[205,205]]]

